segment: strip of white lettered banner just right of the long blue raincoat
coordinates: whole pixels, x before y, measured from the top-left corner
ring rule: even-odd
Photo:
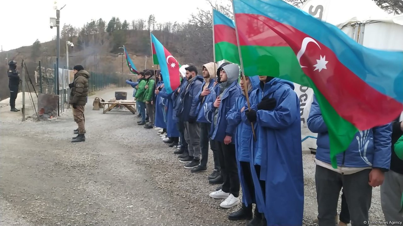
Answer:
[[[307,126],[307,119],[309,112],[311,110],[312,102],[314,101],[314,90],[308,88],[307,86],[301,86],[300,84],[294,83],[294,91],[297,93],[299,98],[299,111],[301,114],[301,143],[302,150],[308,151],[310,149],[316,149],[316,138],[317,134],[312,133]]]

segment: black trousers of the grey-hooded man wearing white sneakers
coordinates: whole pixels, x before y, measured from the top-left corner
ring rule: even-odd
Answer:
[[[224,144],[224,142],[216,141],[216,148],[218,150],[221,176],[224,179],[222,184],[222,191],[231,193],[234,197],[239,197],[239,177],[238,165],[235,156],[235,144]]]

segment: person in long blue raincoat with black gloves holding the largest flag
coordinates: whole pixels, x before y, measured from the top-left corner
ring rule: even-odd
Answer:
[[[270,65],[278,75],[278,63]],[[251,110],[243,113],[245,121],[254,123],[257,136],[256,142],[251,141],[250,157],[258,212],[249,224],[301,226],[304,184],[299,99],[292,82],[270,76],[259,79],[259,88],[251,93]]]

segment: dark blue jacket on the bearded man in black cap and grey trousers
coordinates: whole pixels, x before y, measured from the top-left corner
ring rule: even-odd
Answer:
[[[199,113],[199,103],[195,101],[195,97],[202,88],[204,79],[202,76],[195,76],[188,80],[187,86],[185,86],[185,93],[182,101],[181,117],[183,121],[196,121],[197,113]]]

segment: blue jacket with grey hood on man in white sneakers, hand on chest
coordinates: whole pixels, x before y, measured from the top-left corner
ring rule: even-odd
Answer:
[[[242,95],[241,86],[238,84],[239,66],[229,64],[222,69],[226,72],[227,81],[219,85],[220,89],[216,89],[215,95],[211,95],[207,102],[207,109],[212,112],[211,139],[218,142],[224,142],[225,136],[234,137],[237,126],[227,124],[226,114],[235,105],[237,97]],[[221,103],[217,109],[214,107],[214,101],[220,96],[220,92],[222,92]],[[231,144],[235,144],[234,140],[232,139]]]

